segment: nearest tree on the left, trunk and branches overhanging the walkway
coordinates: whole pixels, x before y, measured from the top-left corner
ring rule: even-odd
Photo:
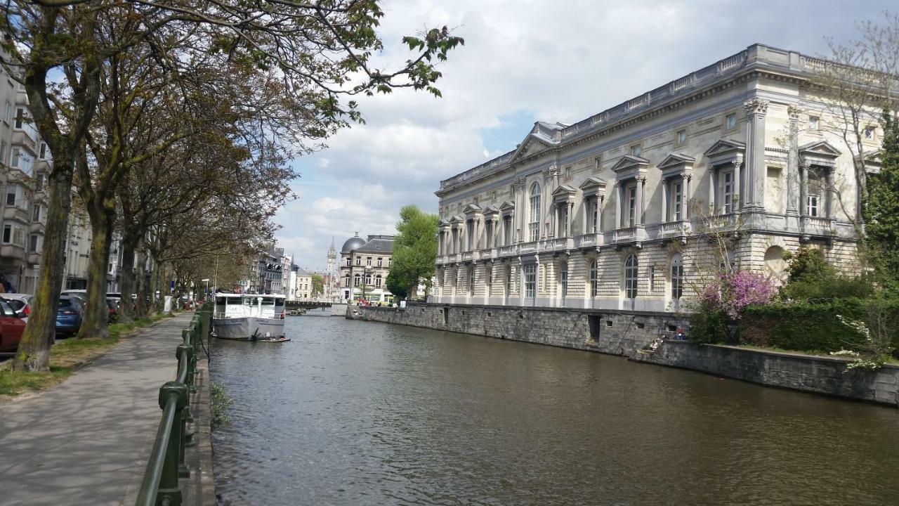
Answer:
[[[91,142],[87,139],[101,91],[107,92],[106,96],[116,95],[108,93],[112,90],[108,86],[111,81],[103,80],[103,76],[116,75],[109,71],[112,61],[123,55],[149,54],[153,58],[147,60],[147,66],[156,65],[173,75],[198,59],[218,58],[258,70],[258,74],[249,75],[247,82],[254,82],[254,78],[265,73],[276,73],[286,95],[263,92],[242,104],[242,108],[265,113],[266,104],[278,97],[300,97],[305,104],[303,115],[324,123],[324,129],[309,122],[313,125],[309,130],[304,128],[298,134],[281,137],[280,131],[290,132],[291,118],[281,116],[280,109],[275,109],[258,130],[270,135],[270,139],[301,142],[310,131],[319,139],[352,121],[361,121],[356,102],[343,97],[389,93],[396,87],[423,89],[440,96],[434,84],[441,73],[434,65],[463,43],[445,27],[432,29],[422,37],[403,39],[414,52],[405,65],[395,71],[372,68],[370,59],[383,48],[376,29],[384,13],[377,1],[334,0],[313,5],[289,1],[11,0],[2,8],[3,49],[10,56],[0,63],[24,85],[35,125],[54,160],[49,174],[49,209],[35,311],[22,337],[20,353],[13,360],[13,368],[20,370],[48,369],[76,167],[82,176],[91,172],[92,164],[100,170],[110,168],[111,177],[92,181],[92,185],[99,183],[102,190],[87,194],[84,200],[92,213],[92,223],[94,216],[99,221],[109,221],[114,214],[114,187],[125,172],[120,157],[131,139],[122,129],[109,138]],[[116,20],[121,23],[115,24]],[[174,49],[170,45],[173,41]],[[56,75],[61,78],[57,80]],[[133,85],[125,81],[120,84]],[[216,85],[213,81],[204,90],[213,100],[222,92]],[[137,96],[140,95],[132,95]],[[128,99],[122,104],[127,102]],[[115,109],[114,104],[104,106]],[[269,130],[272,125],[277,128]],[[109,133],[96,125],[93,128],[104,136]],[[258,147],[266,149],[273,142]],[[112,149],[105,149],[109,147]],[[97,153],[107,159],[98,158]],[[83,177],[82,182],[90,179]],[[93,187],[96,189],[96,185]],[[99,251],[96,256],[105,254]],[[95,258],[92,262],[99,264],[100,260]],[[93,277],[93,292],[98,292],[98,276]],[[95,314],[99,314],[99,297],[100,294],[93,294],[95,300],[90,304]]]

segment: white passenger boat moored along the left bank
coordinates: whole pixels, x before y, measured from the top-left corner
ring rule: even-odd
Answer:
[[[212,333],[220,339],[280,341],[284,301],[280,294],[216,294]]]

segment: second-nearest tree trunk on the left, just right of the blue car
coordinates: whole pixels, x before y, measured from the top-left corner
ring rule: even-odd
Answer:
[[[87,265],[87,307],[78,337],[106,339],[110,335],[109,308],[106,305],[106,267],[110,261],[115,209],[104,205],[89,205],[88,214],[91,217],[93,238]]]

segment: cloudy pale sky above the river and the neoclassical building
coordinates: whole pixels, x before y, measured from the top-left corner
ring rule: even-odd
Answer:
[[[858,37],[895,1],[387,0],[383,59],[403,35],[447,25],[465,39],[441,66],[443,98],[401,90],[360,100],[366,124],[299,158],[298,200],[279,213],[279,245],[325,267],[356,231],[391,234],[414,203],[453,176],[515,148],[533,122],[576,122],[723,59],[754,42],[813,56],[825,38]]]

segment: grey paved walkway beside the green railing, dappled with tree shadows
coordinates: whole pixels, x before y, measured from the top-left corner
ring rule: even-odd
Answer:
[[[191,313],[162,321],[65,383],[0,405],[0,504],[122,504],[140,486]]]

